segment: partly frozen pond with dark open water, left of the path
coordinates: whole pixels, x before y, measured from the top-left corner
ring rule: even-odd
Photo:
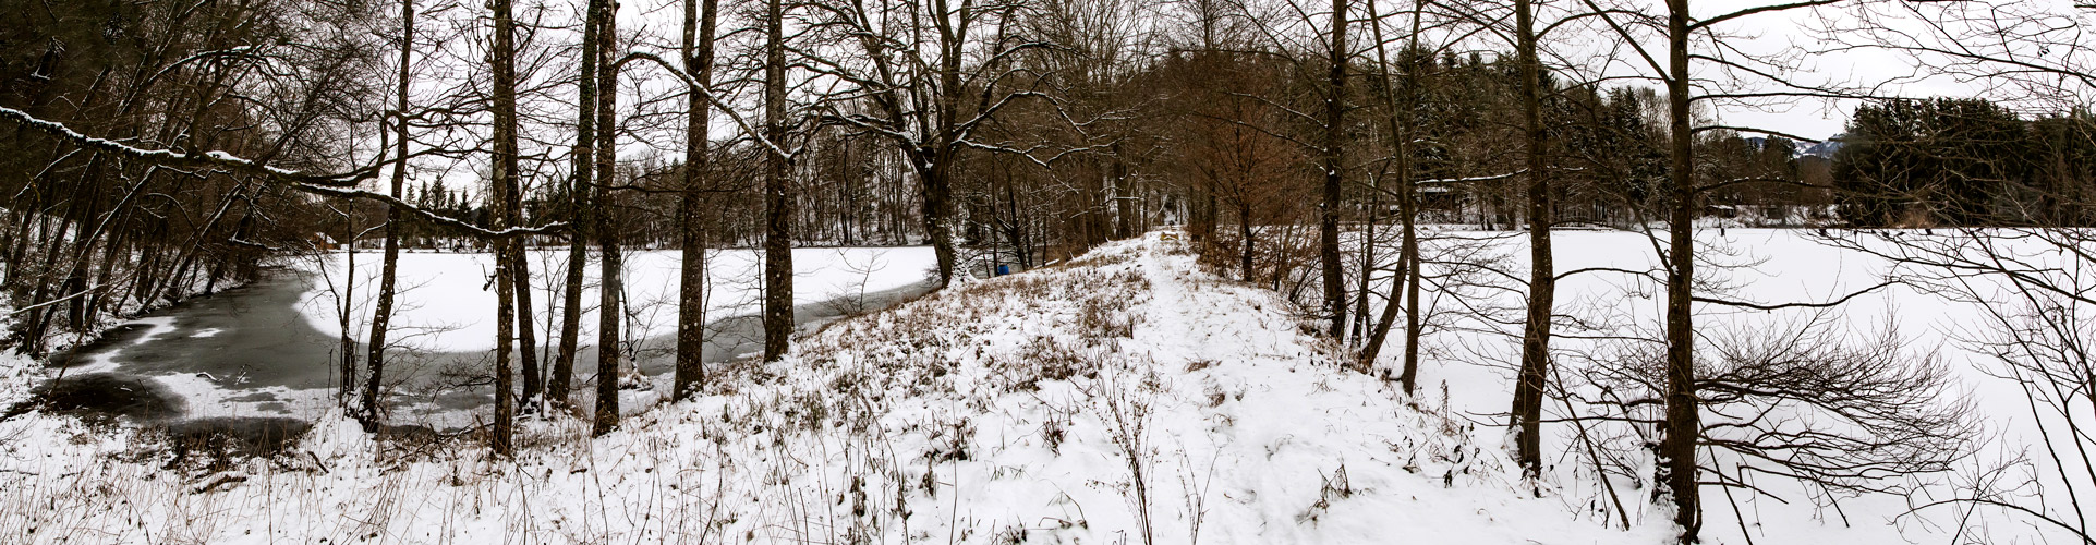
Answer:
[[[566,252],[532,252],[534,329],[549,354],[558,327]],[[627,260],[627,314],[635,365],[643,375],[671,367],[679,252],[635,252]],[[809,247],[794,252],[796,321],[803,325],[885,308],[929,289],[926,247]],[[488,254],[400,256],[390,388],[400,423],[470,426],[493,402],[488,388],[461,388],[461,371],[480,371],[495,346],[495,293]],[[727,361],[759,348],[759,260],[752,252],[708,256],[706,358]],[[576,384],[595,379],[593,310],[597,268],[589,266]],[[356,361],[377,287],[377,254],[358,254],[354,279],[346,254],[279,268],[254,285],[220,291],[124,323],[96,342],[52,356],[59,379],[38,388],[69,413],[122,415],[134,421],[226,417],[312,419],[340,384],[342,319],[348,291]],[[543,356],[541,361],[549,361]],[[589,396],[591,388],[578,388]]]

